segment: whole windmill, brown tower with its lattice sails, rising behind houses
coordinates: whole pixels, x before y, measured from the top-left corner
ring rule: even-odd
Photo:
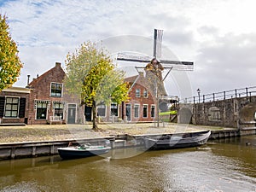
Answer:
[[[144,69],[146,71],[146,79],[148,80],[148,84],[152,93],[156,98],[156,112],[157,112],[157,122],[159,127],[159,103],[163,99],[168,99],[166,94],[166,89],[164,86],[164,81],[166,77],[172,70],[177,71],[192,71],[194,68],[194,63],[191,61],[170,61],[164,60],[161,58],[161,45],[163,38],[163,30],[154,29],[154,49],[153,49],[153,58],[156,59],[157,64],[154,65],[154,59],[149,56],[138,56],[138,55],[130,55],[126,53],[118,53],[117,60],[118,61],[133,61],[133,62],[143,62],[148,63],[145,67],[136,67],[137,72],[138,69]],[[148,70],[149,69],[149,70]],[[162,77],[162,72],[164,70],[168,70],[166,76]]]

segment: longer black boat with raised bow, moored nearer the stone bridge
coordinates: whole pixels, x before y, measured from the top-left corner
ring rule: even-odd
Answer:
[[[207,143],[211,131],[177,133],[160,137],[145,137],[145,147],[154,149],[191,148]]]

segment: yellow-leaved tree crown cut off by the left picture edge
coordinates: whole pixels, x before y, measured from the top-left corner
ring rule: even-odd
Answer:
[[[3,90],[17,81],[23,66],[18,57],[17,45],[9,34],[5,15],[0,15],[0,34],[0,90]]]

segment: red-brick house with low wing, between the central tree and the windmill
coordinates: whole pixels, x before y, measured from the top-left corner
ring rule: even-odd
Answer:
[[[154,94],[148,86],[143,73],[125,79],[130,84],[129,102],[120,105],[111,103],[111,106],[101,104],[97,106],[97,115],[103,122],[153,122],[156,115]],[[85,119],[90,120],[91,108],[85,107]],[[86,115],[89,114],[88,116]],[[89,119],[88,119],[89,118]]]

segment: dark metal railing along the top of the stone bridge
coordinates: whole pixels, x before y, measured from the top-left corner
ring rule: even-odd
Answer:
[[[216,102],[226,99],[239,98],[245,96],[256,96],[256,86],[246,87],[236,90],[224,90],[206,95],[191,96],[181,99],[182,103],[201,103],[201,102]]]

